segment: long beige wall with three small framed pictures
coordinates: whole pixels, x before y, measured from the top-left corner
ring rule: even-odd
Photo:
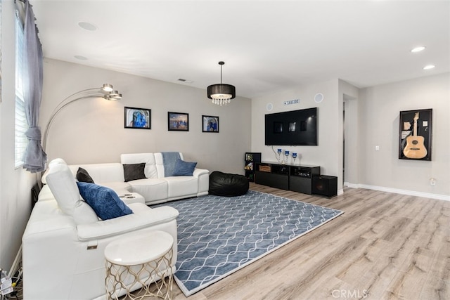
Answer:
[[[42,128],[65,97],[104,83],[113,84],[122,100],[84,99],[66,107],[49,133],[49,159],[63,157],[68,164],[120,162],[121,153],[181,151],[198,167],[244,174],[244,154],[250,151],[247,98],[220,107],[203,89],[45,59]],[[124,106],[151,109],[151,129],[124,129]],[[188,113],[189,131],[168,131],[167,112]],[[202,132],[202,115],[219,117],[219,133]]]

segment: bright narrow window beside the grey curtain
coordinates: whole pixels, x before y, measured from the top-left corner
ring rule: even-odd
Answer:
[[[23,157],[27,149],[28,138],[25,131],[28,129],[27,119],[25,117],[25,99],[23,97],[22,81],[22,56],[24,51],[24,32],[23,25],[18,17],[15,16],[15,167],[23,166]]]

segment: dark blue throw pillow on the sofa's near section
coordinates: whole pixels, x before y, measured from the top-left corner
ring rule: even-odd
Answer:
[[[133,214],[114,190],[94,183],[77,182],[79,194],[102,220]]]

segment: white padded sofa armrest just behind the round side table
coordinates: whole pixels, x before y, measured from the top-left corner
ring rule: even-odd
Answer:
[[[77,226],[78,239],[80,241],[88,241],[120,235],[167,223],[175,220],[179,214],[173,207],[158,207],[155,209],[147,207],[147,209],[142,209],[142,206],[147,207],[143,203],[130,204],[129,207],[134,211],[134,214],[96,223],[79,224]],[[139,209],[135,209],[136,207]]]

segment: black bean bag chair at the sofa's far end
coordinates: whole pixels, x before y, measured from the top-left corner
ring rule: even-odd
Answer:
[[[240,196],[247,193],[249,187],[248,178],[238,174],[227,174],[214,171],[210,174],[211,195],[217,196]]]

